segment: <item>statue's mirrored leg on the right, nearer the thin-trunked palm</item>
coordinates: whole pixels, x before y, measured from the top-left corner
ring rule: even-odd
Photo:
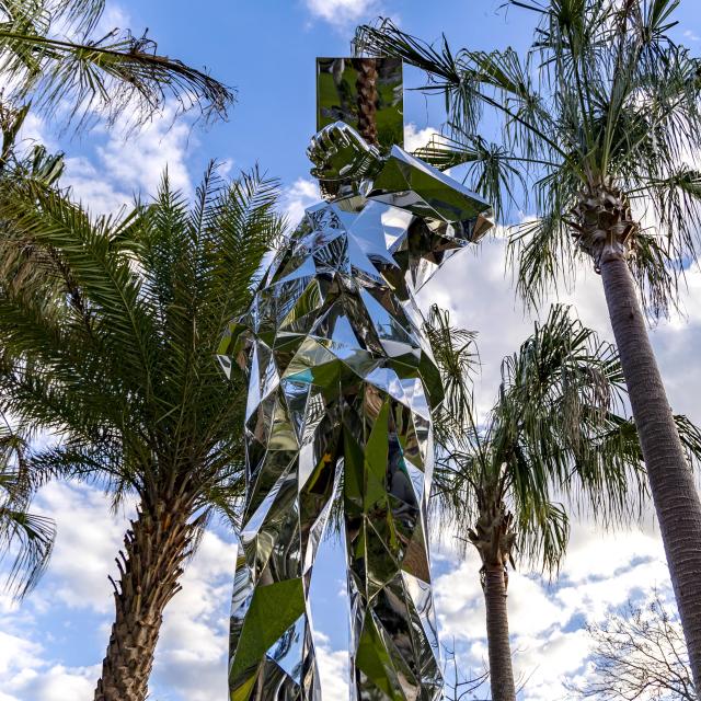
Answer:
[[[425,538],[430,425],[377,388],[344,413],[354,701],[435,701],[443,679]]]

